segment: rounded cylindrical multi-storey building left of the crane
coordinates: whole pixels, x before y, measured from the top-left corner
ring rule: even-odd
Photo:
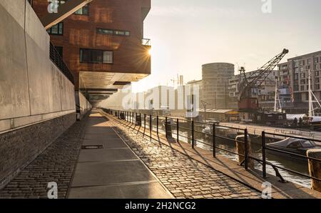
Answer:
[[[228,81],[234,76],[234,64],[212,63],[202,66],[202,92],[200,102],[207,108],[228,109]]]

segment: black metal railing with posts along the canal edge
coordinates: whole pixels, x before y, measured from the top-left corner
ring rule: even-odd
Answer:
[[[300,172],[296,172],[292,169],[287,169],[285,167],[280,167],[277,166],[275,164],[272,164],[271,162],[267,161],[267,157],[266,157],[266,152],[267,150],[273,151],[273,152],[279,152],[279,153],[283,153],[283,154],[289,154],[291,156],[295,156],[295,157],[300,157],[302,159],[310,159],[310,160],[315,160],[317,162],[321,162],[321,159],[316,159],[316,158],[312,158],[312,157],[307,157],[304,155],[300,155],[300,154],[295,154],[292,152],[286,152],[280,149],[275,149],[272,148],[270,146],[268,146],[268,144],[266,144],[266,138],[267,135],[270,135],[270,138],[275,138],[275,137],[284,137],[284,138],[289,138],[288,135],[285,134],[275,134],[275,133],[267,133],[267,132],[261,132],[261,141],[262,141],[262,145],[261,145],[261,151],[262,151],[262,159],[258,159],[257,157],[254,157],[253,155],[251,155],[249,153],[249,147],[250,147],[250,141],[248,139],[248,129],[241,129],[238,127],[230,127],[230,126],[223,126],[223,125],[218,125],[218,124],[208,124],[208,123],[204,123],[204,122],[195,122],[192,120],[188,120],[188,119],[178,119],[175,117],[160,117],[160,116],[155,116],[155,123],[156,125],[153,125],[153,115],[151,114],[141,114],[141,113],[135,113],[135,112],[125,112],[125,111],[118,111],[118,110],[111,110],[111,109],[103,109],[104,112],[108,113],[108,114],[112,114],[113,116],[117,117],[120,120],[124,120],[126,122],[128,122],[131,125],[134,125],[134,129],[136,126],[139,126],[140,128],[143,127],[143,135],[146,135],[146,129],[149,129],[149,136],[152,138],[152,131],[153,131],[153,127],[156,126],[156,134],[159,137],[160,132],[160,128],[159,125],[163,124],[165,126],[165,137],[170,137],[170,134],[176,134],[176,140],[180,141],[180,138],[185,138],[190,140],[191,142],[191,147],[193,149],[195,149],[195,146],[197,143],[200,144],[205,144],[209,147],[211,147],[213,150],[213,157],[217,156],[217,150],[222,150],[224,152],[228,152],[230,154],[235,154],[238,155],[240,157],[244,157],[243,162],[240,163],[240,165],[244,166],[245,169],[248,169],[249,166],[249,160],[253,159],[256,162],[262,164],[263,168],[262,168],[262,176],[263,178],[267,177],[267,165],[269,165],[270,167],[272,167],[272,169],[275,170],[275,176],[280,178],[280,181],[285,183],[285,179],[283,179],[282,175],[280,174],[278,169],[282,169],[285,170],[287,172],[292,172],[294,174],[300,175],[302,177],[307,177],[310,179],[315,179],[317,181],[321,181],[321,179],[317,179],[316,177],[312,177],[310,175],[307,174],[303,174]],[[143,118],[143,119],[142,119]],[[148,119],[148,127],[146,127],[146,119]],[[172,124],[173,122],[173,124]],[[181,127],[180,124],[185,123],[185,126],[187,125],[188,127]],[[208,127],[212,127],[211,133],[208,132],[200,132],[197,129],[195,129],[195,127],[199,127],[198,124],[200,125],[206,125]],[[130,126],[131,127],[131,126]],[[238,132],[238,135],[243,134],[244,135],[244,140],[240,141],[237,139],[231,139],[228,137],[223,137],[219,134],[217,134],[217,130],[219,127],[223,127],[223,128],[228,128],[228,129],[234,129],[236,132]],[[140,130],[140,128],[138,129],[138,132]],[[155,129],[154,129],[155,130]],[[190,131],[190,135],[191,137],[185,136],[183,134],[180,134],[180,130],[184,130],[184,131]],[[198,139],[195,139],[195,133],[197,134],[203,134],[203,135],[207,135],[209,137],[211,137],[212,139],[212,144],[208,144],[205,142],[202,142]],[[321,140],[317,140],[317,139],[309,139],[309,138],[304,138],[304,137],[295,137],[292,136],[291,138],[295,138],[295,139],[304,139],[304,140],[309,140],[309,141],[315,141],[315,142],[321,142]],[[237,152],[233,152],[230,151],[228,149],[224,149],[222,147],[218,147],[216,140],[217,139],[224,139],[225,142],[238,142],[241,144],[244,144],[244,153],[240,154]]]

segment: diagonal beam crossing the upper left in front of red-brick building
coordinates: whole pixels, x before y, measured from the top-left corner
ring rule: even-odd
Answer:
[[[54,26],[55,24],[58,24],[59,22],[63,21],[63,19],[66,19],[68,16],[78,11],[78,9],[81,9],[83,6],[90,3],[91,1],[93,0],[66,1],[65,4],[61,4],[61,6],[58,6],[57,13],[53,12],[46,14],[46,16],[42,16],[40,18],[41,23],[44,24],[45,29],[49,29],[51,28],[51,26]]]

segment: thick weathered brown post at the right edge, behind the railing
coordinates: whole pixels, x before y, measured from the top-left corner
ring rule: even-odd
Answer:
[[[321,159],[321,149],[307,150],[307,157]],[[309,159],[308,164],[310,176],[321,179],[321,162]],[[316,179],[311,179],[311,189],[321,192],[321,182]]]

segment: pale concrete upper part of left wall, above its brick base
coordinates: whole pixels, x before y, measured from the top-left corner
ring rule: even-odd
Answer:
[[[76,111],[74,86],[49,58],[26,0],[0,0],[0,134]]]

